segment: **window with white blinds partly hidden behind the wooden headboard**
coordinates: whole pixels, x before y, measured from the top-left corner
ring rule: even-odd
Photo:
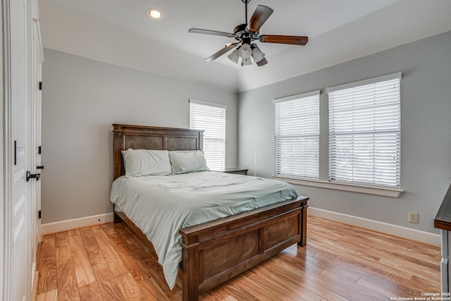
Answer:
[[[190,99],[190,128],[204,130],[205,160],[211,170],[226,167],[226,109]]]

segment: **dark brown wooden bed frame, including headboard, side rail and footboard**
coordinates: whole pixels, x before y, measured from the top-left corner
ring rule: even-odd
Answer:
[[[113,179],[125,174],[121,150],[202,149],[203,133],[203,130],[113,124]],[[198,300],[199,294],[264,262],[290,245],[304,246],[307,200],[308,197],[297,197],[180,229],[183,300]],[[124,221],[145,243],[152,245],[122,212],[114,212],[114,221]]]

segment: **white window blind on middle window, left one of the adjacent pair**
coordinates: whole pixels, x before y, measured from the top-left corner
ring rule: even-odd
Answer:
[[[319,178],[319,91],[274,100],[274,173]]]

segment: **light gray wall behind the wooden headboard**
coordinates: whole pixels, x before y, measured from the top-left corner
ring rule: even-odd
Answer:
[[[237,166],[237,94],[44,49],[42,223],[112,212],[112,123],[189,128],[188,99],[226,104]]]

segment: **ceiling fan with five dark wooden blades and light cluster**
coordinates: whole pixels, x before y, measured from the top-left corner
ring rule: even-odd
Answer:
[[[245,21],[246,23],[237,25],[233,30],[233,33],[230,32],[221,32],[216,30],[202,30],[199,28],[191,28],[188,32],[193,33],[202,33],[204,35],[220,35],[223,37],[234,37],[238,42],[229,43],[226,46],[209,56],[209,58],[205,59],[205,61],[214,61],[218,59],[218,57],[226,54],[228,51],[233,50],[228,58],[230,61],[234,63],[238,63],[241,58],[241,66],[252,65],[251,56],[254,59],[254,62],[257,63],[257,66],[264,66],[268,61],[265,59],[265,54],[259,49],[257,44],[253,42],[255,40],[259,40],[263,43],[277,43],[277,44],[290,44],[290,45],[300,45],[304,46],[309,42],[309,37],[295,36],[295,35],[260,35],[260,27],[268,20],[269,16],[273,13],[271,8],[268,6],[259,5],[254,11],[249,23],[247,22],[247,4],[251,0],[241,0],[243,4],[245,4]]]

